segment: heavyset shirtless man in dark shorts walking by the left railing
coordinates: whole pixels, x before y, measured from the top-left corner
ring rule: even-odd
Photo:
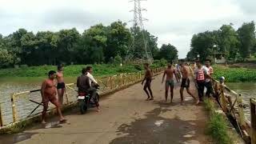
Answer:
[[[58,103],[58,99],[56,98],[56,87],[54,84],[54,78],[56,78],[56,72],[54,70],[50,70],[48,73],[49,78],[47,78],[44,82],[42,82],[41,95],[42,95],[42,124],[46,124],[46,112],[48,109],[48,103],[51,102],[56,106],[58,114],[59,114],[59,122],[66,122],[66,119],[62,116],[62,110],[60,108],[60,104]]]

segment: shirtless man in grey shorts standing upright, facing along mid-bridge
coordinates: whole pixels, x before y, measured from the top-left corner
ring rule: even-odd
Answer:
[[[174,78],[173,78],[174,74],[175,74],[176,80],[178,81],[175,70],[172,68],[171,63],[169,63],[167,69],[163,73],[162,83],[166,77],[166,102],[167,102],[168,91],[170,87],[170,103],[173,102],[173,98],[174,98]]]

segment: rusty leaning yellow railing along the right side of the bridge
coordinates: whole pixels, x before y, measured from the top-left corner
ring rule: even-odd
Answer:
[[[190,71],[194,77],[194,70],[192,70],[191,67]],[[251,131],[253,129],[252,123],[256,124],[256,121],[252,119],[252,110],[250,112],[249,106],[246,106],[243,102],[244,100],[242,99],[242,95],[236,93],[234,90],[231,90],[228,86],[221,84],[215,79],[212,80],[212,83],[214,87],[214,94],[218,97],[218,104],[221,106],[224,113],[232,116],[237,122],[241,136],[246,140],[255,137],[255,133],[253,134]],[[247,119],[246,116],[248,117]]]

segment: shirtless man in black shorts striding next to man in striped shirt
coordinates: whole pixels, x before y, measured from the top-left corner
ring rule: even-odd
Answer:
[[[182,85],[181,85],[181,90],[180,90],[181,104],[183,104],[183,102],[184,102],[184,98],[183,98],[184,88],[186,88],[186,92],[188,94],[190,94],[190,96],[193,97],[194,100],[196,101],[196,104],[198,104],[199,100],[197,98],[195,98],[194,95],[191,94],[191,92],[190,92],[190,78],[189,78],[190,68],[188,66],[185,66],[183,61],[181,61],[181,66],[182,66],[182,69],[181,69],[181,71],[182,71]]]

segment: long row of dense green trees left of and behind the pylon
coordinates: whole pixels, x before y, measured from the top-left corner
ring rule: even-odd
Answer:
[[[118,21],[110,26],[91,26],[82,34],[75,28],[58,32],[38,31],[37,34],[19,29],[6,37],[0,34],[0,68],[122,62],[132,42],[135,42],[135,56],[144,53],[143,35],[154,58],[173,58],[159,53],[158,38],[154,35],[137,27],[129,29],[126,23]]]

